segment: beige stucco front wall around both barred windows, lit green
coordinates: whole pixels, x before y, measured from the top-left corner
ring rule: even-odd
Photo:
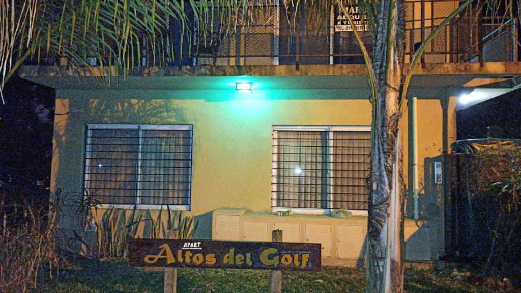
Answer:
[[[452,112],[454,109],[450,108],[448,113]],[[212,233],[211,212],[215,210],[270,212],[273,125],[368,126],[371,122],[369,101],[350,100],[342,90],[270,90],[251,94],[228,90],[57,90],[56,113],[59,115],[55,118],[51,189],[61,188],[63,194],[82,194],[86,124],[193,124],[189,214],[201,220],[197,235],[204,238]],[[418,100],[420,187],[425,186],[421,166],[425,158],[442,153],[442,114],[439,100]],[[407,127],[407,115],[404,116],[402,126]],[[452,117],[448,121],[450,133],[454,133],[455,120]],[[406,167],[404,172],[407,181]],[[431,198],[428,202],[437,202],[440,197],[430,191],[421,194],[424,199]],[[102,212],[97,211],[98,217]],[[426,218],[430,223],[424,227],[441,223],[440,215]],[[319,215],[305,217],[305,221],[296,217],[295,221],[351,221],[330,218]],[[355,222],[365,226],[364,218]],[[77,222],[76,215],[66,214],[66,227],[78,229]],[[410,226],[417,230],[421,225],[411,222]],[[414,234],[415,229],[408,231]],[[411,251],[430,250],[421,243],[440,241],[437,235],[429,233],[421,234],[423,238],[429,235],[429,239],[420,239]],[[442,245],[441,242],[433,247],[438,251]],[[414,255],[411,259],[415,259]],[[334,258],[328,263],[346,264]]]

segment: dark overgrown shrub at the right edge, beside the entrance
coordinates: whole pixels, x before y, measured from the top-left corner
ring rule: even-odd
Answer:
[[[460,248],[482,275],[521,274],[521,151],[463,155]]]

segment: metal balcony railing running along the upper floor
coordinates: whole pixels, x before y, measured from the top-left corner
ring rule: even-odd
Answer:
[[[406,0],[405,62],[411,62],[418,46],[460,5],[454,0]],[[354,34],[337,9],[323,17],[308,17],[302,11],[289,11],[282,6],[254,6],[262,18],[252,19],[228,33],[220,32],[220,23],[201,32],[192,28],[191,38],[181,35],[175,20],[165,35],[173,38],[168,45],[154,46],[154,52],[142,49],[140,60],[134,64],[151,65],[300,65],[300,64],[361,64],[364,62]],[[470,6],[456,16],[426,47],[422,63],[461,63],[518,60],[518,23],[481,17]],[[352,15],[355,20],[357,14]],[[194,19],[195,23],[195,19]],[[186,28],[184,28],[186,29]],[[190,29],[190,28],[189,28]],[[373,36],[364,23],[359,22],[369,53],[373,50]],[[180,45],[183,43],[184,45]],[[159,52],[160,49],[163,52]],[[148,52],[148,55],[146,54]],[[51,58],[52,59],[52,58]],[[108,59],[108,58],[106,58]],[[55,62],[55,60],[52,60]],[[99,64],[100,61],[92,59]],[[104,64],[109,64],[104,60]],[[114,63],[113,63],[114,64]]]

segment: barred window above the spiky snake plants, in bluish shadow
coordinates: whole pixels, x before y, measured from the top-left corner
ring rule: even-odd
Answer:
[[[190,210],[191,125],[87,125],[85,192],[102,206]]]

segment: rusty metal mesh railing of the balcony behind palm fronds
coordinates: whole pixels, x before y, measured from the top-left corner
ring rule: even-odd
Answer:
[[[409,63],[421,43],[460,5],[454,0],[411,0],[406,3],[405,62]],[[266,9],[266,8],[263,8]],[[277,18],[262,25],[241,27],[222,40],[213,59],[199,56],[195,64],[270,65],[270,64],[360,64],[362,52],[354,34],[339,11],[311,19],[302,11],[287,11],[284,7],[268,9]],[[501,40],[485,36],[506,23],[489,23],[477,16],[478,9],[470,6],[445,25],[427,45],[422,63],[477,62],[482,54],[499,50],[501,54],[485,60],[512,60],[515,51],[514,34],[510,25],[502,30]],[[373,35],[362,20],[358,26],[369,53],[373,50]],[[488,43],[488,45],[486,45]],[[486,45],[483,48],[483,45]],[[204,60],[204,62],[201,62]]]

